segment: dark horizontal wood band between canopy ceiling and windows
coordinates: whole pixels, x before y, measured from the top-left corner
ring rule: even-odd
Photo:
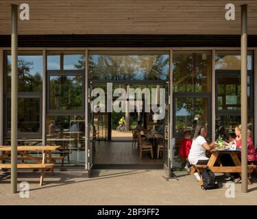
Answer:
[[[0,36],[0,47],[10,47],[11,36]],[[240,47],[234,35],[20,35],[19,47]],[[257,36],[248,36],[257,47]]]

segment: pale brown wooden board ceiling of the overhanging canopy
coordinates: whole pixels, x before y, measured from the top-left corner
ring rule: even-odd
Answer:
[[[257,0],[0,0],[0,35],[11,32],[11,3],[28,3],[19,34],[241,33],[240,5],[248,4],[249,34],[257,35]],[[225,20],[225,4],[236,21]]]

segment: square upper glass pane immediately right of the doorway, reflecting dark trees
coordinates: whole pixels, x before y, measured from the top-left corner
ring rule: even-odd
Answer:
[[[210,92],[210,52],[173,54],[173,92]]]

